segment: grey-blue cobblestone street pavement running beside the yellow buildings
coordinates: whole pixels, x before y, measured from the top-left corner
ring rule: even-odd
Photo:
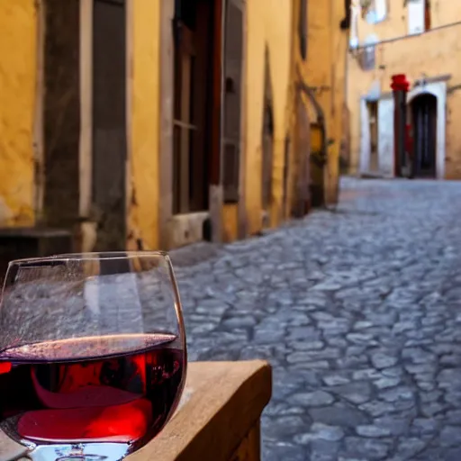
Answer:
[[[336,212],[174,257],[190,358],[274,367],[265,461],[461,459],[460,203],[347,178]]]

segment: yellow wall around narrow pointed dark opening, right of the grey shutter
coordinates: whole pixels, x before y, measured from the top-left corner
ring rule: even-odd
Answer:
[[[271,225],[282,220],[285,136],[289,130],[286,105],[290,89],[292,7],[287,0],[247,2],[245,91],[245,205],[248,233],[261,230],[262,118],[265,53],[269,50],[275,122]]]

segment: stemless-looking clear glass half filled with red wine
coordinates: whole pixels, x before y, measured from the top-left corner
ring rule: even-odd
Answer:
[[[167,253],[9,264],[0,304],[0,447],[1,438],[22,444],[34,461],[118,461],[171,418],[185,371]]]

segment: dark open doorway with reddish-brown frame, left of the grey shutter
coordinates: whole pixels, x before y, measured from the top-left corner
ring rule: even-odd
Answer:
[[[213,148],[210,0],[176,0],[174,19],[173,213],[209,209]]]

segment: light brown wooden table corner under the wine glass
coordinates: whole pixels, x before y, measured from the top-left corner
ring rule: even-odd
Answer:
[[[157,438],[126,459],[258,461],[259,419],[271,392],[272,373],[265,361],[190,363],[175,415]],[[22,453],[21,446],[0,434],[0,461]]]

